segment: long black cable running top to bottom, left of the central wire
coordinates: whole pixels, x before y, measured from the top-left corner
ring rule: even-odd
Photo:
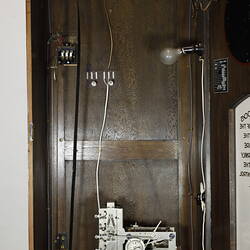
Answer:
[[[79,96],[80,96],[80,55],[81,55],[81,29],[80,29],[80,8],[77,1],[77,26],[78,26],[78,64],[76,76],[75,93],[75,124],[74,124],[74,145],[73,145],[73,166],[72,166],[72,184],[70,200],[70,220],[69,220],[69,250],[72,250],[73,226],[74,226],[74,204],[75,204],[75,186],[76,186],[76,160],[77,160],[77,135],[78,135],[78,116],[79,116]]]

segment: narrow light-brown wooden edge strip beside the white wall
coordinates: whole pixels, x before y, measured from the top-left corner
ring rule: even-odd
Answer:
[[[28,129],[33,124],[32,116],[32,54],[31,54],[31,2],[26,0],[26,55],[28,90]],[[34,212],[33,212],[33,142],[28,141],[29,164],[29,250],[34,249]]]

